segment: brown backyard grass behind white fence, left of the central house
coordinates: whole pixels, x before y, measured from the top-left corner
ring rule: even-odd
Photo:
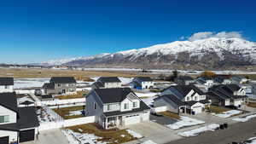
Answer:
[[[61,107],[61,108],[54,108],[52,109],[56,113],[58,113],[64,119],[71,119],[71,118],[82,118],[82,112],[79,114],[71,115],[71,112],[79,112],[84,109],[83,106],[76,106],[76,107]]]

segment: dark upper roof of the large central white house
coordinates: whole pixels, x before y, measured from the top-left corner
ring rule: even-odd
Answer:
[[[135,95],[130,88],[94,89],[103,103],[124,101],[130,93]]]

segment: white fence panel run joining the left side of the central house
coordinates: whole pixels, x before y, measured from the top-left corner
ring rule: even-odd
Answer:
[[[43,130],[60,129],[68,126],[88,124],[88,123],[95,123],[95,116],[65,119],[59,122],[43,123],[43,124],[40,124],[40,126],[38,127],[38,130],[43,131]]]

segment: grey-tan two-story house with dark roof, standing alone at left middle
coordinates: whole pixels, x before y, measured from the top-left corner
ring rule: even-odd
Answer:
[[[46,95],[75,95],[77,94],[77,81],[73,77],[52,77],[49,83],[44,84]]]

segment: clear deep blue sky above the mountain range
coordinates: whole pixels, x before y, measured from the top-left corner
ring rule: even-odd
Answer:
[[[1,1],[0,63],[138,49],[195,32],[241,32],[256,42],[256,1]]]

